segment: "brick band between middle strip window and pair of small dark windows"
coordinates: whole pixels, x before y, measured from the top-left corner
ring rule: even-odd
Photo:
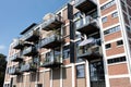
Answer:
[[[109,41],[109,40],[117,39],[117,38],[120,38],[120,37],[122,37],[121,30],[109,34],[109,35],[105,35],[104,38],[105,38],[105,41]]]

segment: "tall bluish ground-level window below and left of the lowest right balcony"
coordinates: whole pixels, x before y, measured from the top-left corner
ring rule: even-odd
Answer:
[[[81,78],[81,77],[85,77],[85,66],[84,65],[78,65],[76,66],[76,77]]]

